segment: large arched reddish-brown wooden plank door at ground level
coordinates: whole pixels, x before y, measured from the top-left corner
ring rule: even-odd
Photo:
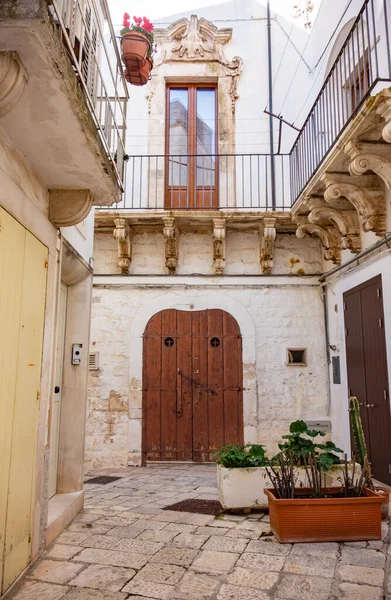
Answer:
[[[164,310],[144,334],[145,460],[213,462],[243,441],[242,338],[222,310]]]

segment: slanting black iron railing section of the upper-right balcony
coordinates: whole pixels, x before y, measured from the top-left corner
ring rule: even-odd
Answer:
[[[366,0],[353,23],[291,150],[292,204],[364,100],[391,81],[390,13],[390,0]]]

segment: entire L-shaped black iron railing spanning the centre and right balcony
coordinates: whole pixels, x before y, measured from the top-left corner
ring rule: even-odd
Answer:
[[[364,2],[289,154],[131,156],[117,209],[289,212],[341,136],[349,137],[366,101],[388,87],[389,13],[387,0]]]

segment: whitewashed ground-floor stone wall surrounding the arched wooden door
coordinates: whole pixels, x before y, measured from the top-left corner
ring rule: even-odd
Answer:
[[[289,284],[219,284],[204,278],[167,278],[159,286],[115,278],[95,280],[91,348],[99,371],[90,372],[87,467],[139,464],[141,460],[142,334],[150,317],[165,308],[221,308],[238,321],[243,336],[244,433],[246,442],[276,449],[297,418],[327,418],[327,365],[323,304],[316,279]],[[128,280],[129,281],[129,280]],[[203,282],[202,282],[203,281]],[[158,288],[158,289],[157,289]],[[309,327],[308,324],[313,326]],[[307,367],[288,367],[286,348],[306,347]]]

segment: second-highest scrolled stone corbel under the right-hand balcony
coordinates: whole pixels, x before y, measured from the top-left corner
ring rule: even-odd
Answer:
[[[381,155],[379,146],[379,144],[368,144],[351,140],[344,147],[344,151],[352,159],[349,166],[351,175],[363,175],[367,171],[373,171],[384,181],[386,188],[390,190],[391,162],[388,158]],[[387,150],[389,153],[388,147]]]

